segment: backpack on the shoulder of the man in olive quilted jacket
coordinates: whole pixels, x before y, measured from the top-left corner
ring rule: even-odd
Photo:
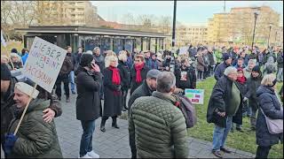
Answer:
[[[185,117],[186,128],[193,127],[197,122],[196,112],[193,107],[193,103],[184,95],[173,95],[177,101],[174,105],[181,110]]]

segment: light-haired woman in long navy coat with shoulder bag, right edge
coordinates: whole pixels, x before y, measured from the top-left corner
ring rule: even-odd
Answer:
[[[283,133],[269,133],[264,117],[283,120],[283,108],[275,93],[276,81],[274,74],[264,75],[261,86],[256,91],[260,108],[256,118],[256,158],[267,158],[272,146],[280,140],[283,142]]]

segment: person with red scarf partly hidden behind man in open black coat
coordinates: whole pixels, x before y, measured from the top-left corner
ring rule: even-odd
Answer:
[[[242,110],[243,110],[243,107],[248,106],[248,104],[247,104],[248,98],[245,97],[245,95],[247,95],[247,92],[248,92],[248,87],[247,87],[247,78],[244,76],[242,68],[238,68],[237,72],[238,72],[238,76],[237,76],[237,79],[236,79],[236,84],[239,87],[241,95],[243,96],[243,100],[240,103],[239,109],[237,110],[236,114],[233,116],[233,123],[236,124],[236,130],[237,131],[243,132],[241,130]],[[232,130],[233,130],[233,126],[232,126]]]

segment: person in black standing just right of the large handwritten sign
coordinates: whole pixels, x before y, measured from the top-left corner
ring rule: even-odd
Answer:
[[[68,48],[69,46],[67,46],[66,49]],[[59,101],[61,101],[61,82],[63,82],[64,91],[66,95],[66,102],[70,102],[69,74],[73,70],[72,58],[70,54],[71,54],[70,52],[67,53],[66,57],[64,58],[63,64],[59,71],[59,76],[57,77],[55,82],[56,85],[55,93],[58,96]]]

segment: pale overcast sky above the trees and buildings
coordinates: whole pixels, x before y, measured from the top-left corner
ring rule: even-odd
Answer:
[[[172,16],[173,1],[92,1],[99,15],[109,21],[122,22],[122,16],[132,13]],[[280,13],[283,26],[283,1],[177,1],[177,20],[185,25],[207,24],[214,13],[228,12],[232,7],[268,5]]]

